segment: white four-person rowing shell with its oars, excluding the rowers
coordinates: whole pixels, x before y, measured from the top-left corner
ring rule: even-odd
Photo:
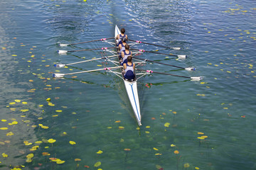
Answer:
[[[138,89],[137,89],[138,79],[140,79],[141,77],[144,77],[146,74],[152,74],[152,73],[166,74],[166,75],[171,75],[171,76],[175,76],[175,77],[183,77],[183,78],[191,79],[191,81],[200,81],[201,77],[185,77],[185,76],[179,76],[179,75],[168,74],[168,73],[163,73],[163,72],[154,72],[152,70],[144,70],[144,69],[136,68],[138,73],[135,74],[135,72],[134,72],[134,74],[135,74],[134,79],[125,79],[124,78],[124,73],[122,72],[124,67],[121,65],[121,61],[119,61],[119,50],[118,50],[118,47],[117,47],[118,41],[119,41],[119,40],[117,40],[117,35],[119,35],[119,34],[120,34],[120,30],[117,26],[115,26],[115,28],[114,28],[114,38],[102,38],[102,39],[99,39],[99,40],[87,41],[87,42],[95,42],[95,41],[107,42],[108,44],[112,45],[112,47],[102,47],[102,48],[97,48],[97,49],[85,49],[85,50],[73,50],[73,51],[66,51],[66,50],[59,50],[58,51],[58,53],[60,55],[67,55],[69,52],[79,52],[79,51],[87,51],[87,50],[103,50],[105,52],[110,52],[112,54],[108,57],[99,57],[99,58],[95,58],[95,59],[91,59],[91,60],[85,60],[85,61],[81,61],[81,62],[73,62],[73,63],[70,63],[70,64],[55,64],[55,67],[65,67],[65,66],[69,66],[69,65],[72,65],[72,64],[80,64],[82,62],[91,62],[91,61],[95,61],[95,60],[104,59],[108,62],[112,62],[112,64],[114,64],[114,67],[105,67],[105,68],[102,68],[102,69],[92,69],[92,70],[87,70],[87,71],[82,71],[82,72],[72,72],[72,73],[66,73],[66,74],[57,74],[57,73],[55,73],[55,74],[53,74],[53,77],[54,78],[63,78],[66,75],[70,75],[70,74],[80,74],[80,73],[85,73],[85,72],[97,72],[97,71],[101,71],[101,70],[105,70],[106,72],[111,72],[111,73],[117,75],[118,77],[120,77],[124,81],[124,86],[125,86],[125,89],[127,91],[127,96],[129,98],[129,102],[131,103],[132,110],[134,112],[134,117],[136,118],[137,123],[140,126],[140,125],[142,125],[142,115],[141,115],[140,106],[139,106],[139,95],[138,95]],[[107,40],[112,40],[112,39],[114,39],[114,42],[107,41]],[[138,41],[138,40],[129,40],[129,41],[134,42],[133,44],[130,44],[130,46],[137,45],[137,44],[140,44],[140,43],[145,43],[145,44],[148,44],[148,45],[155,45],[155,44],[151,44],[151,43],[148,43],[148,42],[142,42],[142,41]],[[86,43],[86,42],[77,42],[77,43],[72,43],[72,44],[60,44],[60,47],[67,47],[68,45],[78,45],[78,44],[82,44],[82,43]],[[156,46],[166,47],[166,46],[163,46],[163,45],[156,45]],[[173,50],[181,50],[180,47],[169,47],[169,48],[171,48]],[[110,50],[110,49],[116,49],[116,50],[113,51],[113,50]],[[156,62],[156,61],[153,61],[153,60],[146,60],[146,59],[144,60],[142,58],[135,57],[138,54],[141,54],[143,52],[148,52],[148,51],[145,51],[145,50],[135,50],[135,51],[136,52],[132,53],[133,54],[132,57],[134,58],[134,60],[138,61],[138,62],[135,62],[137,64],[136,67],[138,67],[140,64],[144,64],[146,62]],[[158,53],[158,54],[160,54],[160,53]],[[175,56],[175,57],[178,57],[178,58],[186,58],[186,55],[173,55],[173,54],[171,54],[171,56]],[[117,57],[117,61],[112,60],[113,57]],[[171,64],[161,63],[161,62],[156,62],[156,63],[169,65],[171,67],[177,67],[179,69],[185,69],[187,71],[195,70],[193,67],[185,68],[185,67],[178,67],[178,66],[174,66],[174,65],[171,65]],[[117,72],[117,71],[115,71],[115,69],[120,69],[121,72]]]

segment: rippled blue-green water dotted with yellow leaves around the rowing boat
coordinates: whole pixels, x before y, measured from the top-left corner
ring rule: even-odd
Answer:
[[[0,2],[1,169],[256,169],[255,5],[247,0]],[[110,38],[115,25],[126,28],[132,40],[183,48],[137,49],[188,55],[186,60],[140,57],[196,71],[144,68],[203,77],[139,79],[140,128],[118,77],[105,72],[51,77],[100,68],[100,60],[61,69],[53,64],[102,57],[99,51],[58,55],[57,50],[109,47],[106,43],[60,48],[58,42]]]

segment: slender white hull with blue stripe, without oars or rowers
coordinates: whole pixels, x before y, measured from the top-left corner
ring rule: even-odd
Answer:
[[[117,38],[117,35],[119,35],[121,32],[119,30],[119,28],[117,26],[115,26],[115,29],[114,29],[114,40],[115,40],[115,43],[117,45],[117,42],[118,40],[116,40]],[[118,58],[118,56],[117,56]],[[121,64],[121,62],[119,62],[119,64]],[[123,67],[120,68],[121,69],[121,72],[123,70]],[[135,74],[135,72],[134,72]],[[141,116],[141,113],[140,113],[140,107],[139,107],[139,95],[138,95],[138,90],[137,90],[137,79],[136,79],[136,75],[135,75],[135,79],[133,80],[127,80],[127,79],[124,79],[124,74],[122,74],[122,78],[123,78],[123,81],[124,81],[124,86],[125,86],[125,89],[127,91],[127,95],[128,95],[128,98],[129,98],[129,101],[131,103],[131,106],[132,106],[132,110],[134,112],[134,115],[135,115],[135,118],[137,120],[137,123],[138,125],[142,125],[142,116]]]

